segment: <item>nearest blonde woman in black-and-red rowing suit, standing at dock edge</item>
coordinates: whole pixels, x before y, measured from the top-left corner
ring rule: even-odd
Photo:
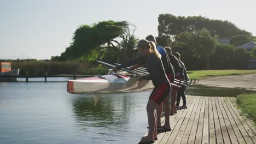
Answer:
[[[153,41],[140,40],[137,47],[141,55],[146,57],[146,65],[149,72],[149,75],[140,76],[139,79],[152,80],[155,86],[147,104],[149,131],[147,136],[142,137],[141,142],[154,143],[154,140],[157,139],[157,116],[155,109],[170,95],[171,86],[165,74],[164,66],[162,65],[161,55],[158,50],[156,50],[155,43]]]

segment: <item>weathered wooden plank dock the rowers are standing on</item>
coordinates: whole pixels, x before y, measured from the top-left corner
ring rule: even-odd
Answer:
[[[256,128],[240,115],[235,98],[188,96],[187,105],[170,117],[172,130],[159,133],[155,143],[256,143]]]

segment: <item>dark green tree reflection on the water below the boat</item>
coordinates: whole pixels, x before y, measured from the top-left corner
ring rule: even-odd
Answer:
[[[83,127],[125,127],[129,123],[132,97],[103,95],[95,104],[94,95],[80,96],[73,101],[75,120]]]

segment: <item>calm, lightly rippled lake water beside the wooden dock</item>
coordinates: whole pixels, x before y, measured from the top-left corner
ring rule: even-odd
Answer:
[[[60,82],[0,82],[0,143],[136,143],[146,133],[150,92],[69,94],[67,82],[55,80]],[[187,90],[209,96],[242,92],[201,86]]]

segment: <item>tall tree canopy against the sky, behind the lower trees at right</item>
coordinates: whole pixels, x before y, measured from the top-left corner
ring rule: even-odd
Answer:
[[[195,33],[206,28],[211,35],[219,35],[220,38],[230,38],[234,35],[251,35],[251,33],[237,28],[229,21],[210,20],[202,16],[174,16],[172,14],[160,14],[158,17],[159,37],[163,35],[173,38],[179,33]]]

